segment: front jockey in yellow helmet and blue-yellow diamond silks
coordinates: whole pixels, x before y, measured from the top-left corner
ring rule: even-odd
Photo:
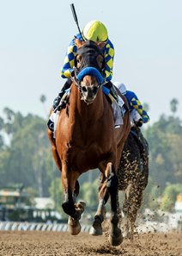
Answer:
[[[112,85],[112,66],[113,66],[113,58],[114,58],[114,47],[112,42],[108,39],[107,29],[102,22],[92,21],[88,22],[88,24],[83,28],[82,34],[76,34],[76,38],[80,41],[95,41],[95,42],[104,42],[104,47],[102,48],[103,54],[105,56],[106,61],[106,70],[105,70],[105,79],[106,84],[104,86],[109,89],[112,97],[118,100],[117,93]],[[67,78],[64,87],[58,94],[58,97],[53,102],[53,109],[57,109],[58,105],[63,108],[65,105],[64,100],[61,101],[64,94],[68,89],[70,89],[70,85],[72,81],[70,79],[71,72],[73,72],[74,68],[74,59],[76,56],[77,47],[75,45],[74,39],[70,42],[70,46],[68,47],[66,57],[64,59],[64,66],[61,69],[61,77]],[[60,103],[61,101],[61,103]]]

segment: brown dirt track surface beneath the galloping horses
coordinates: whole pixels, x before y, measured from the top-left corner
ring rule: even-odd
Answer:
[[[91,236],[81,233],[41,231],[1,231],[0,255],[122,255],[122,256],[182,256],[182,233],[135,235],[134,241],[124,240],[111,247],[107,234]]]

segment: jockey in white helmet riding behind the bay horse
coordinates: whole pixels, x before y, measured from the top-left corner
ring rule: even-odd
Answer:
[[[130,122],[135,123],[137,127],[142,127],[143,123],[149,122],[149,115],[143,109],[142,103],[133,91],[128,91],[124,84],[120,82],[113,83],[118,90],[126,97],[130,109]]]

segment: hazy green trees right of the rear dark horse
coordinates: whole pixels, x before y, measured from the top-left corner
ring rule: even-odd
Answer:
[[[182,127],[179,118],[161,116],[158,122],[145,131],[149,142],[149,174],[162,188],[166,183],[182,182],[181,137]]]

